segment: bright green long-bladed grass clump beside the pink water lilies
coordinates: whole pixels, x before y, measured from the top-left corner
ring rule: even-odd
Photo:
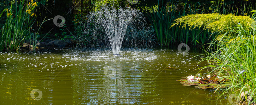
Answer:
[[[206,50],[206,57],[202,61],[208,61],[210,65],[202,68],[210,67],[211,72],[231,80],[232,86],[221,95],[235,91],[240,96],[242,92],[249,91],[254,94],[251,96],[253,97],[251,102],[256,99],[255,25],[253,27],[252,30],[247,30],[238,23],[236,27],[230,28],[232,30],[219,35],[222,37],[229,35],[228,37],[211,42]]]

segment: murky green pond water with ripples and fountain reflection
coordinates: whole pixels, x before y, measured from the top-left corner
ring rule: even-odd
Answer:
[[[199,54],[172,49],[122,49],[120,56],[106,49],[1,52],[0,104],[229,104],[217,100],[213,89],[176,81],[206,65],[197,65],[202,56],[192,58]]]

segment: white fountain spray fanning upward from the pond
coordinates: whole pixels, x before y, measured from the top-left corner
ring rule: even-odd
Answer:
[[[138,23],[143,23],[145,20],[143,14],[138,10],[107,7],[102,7],[100,10],[92,12],[86,18],[90,22],[85,23],[85,29],[94,28],[93,33],[95,34],[97,33],[95,31],[98,31],[98,27],[95,24],[99,24],[104,28],[105,34],[109,39],[109,43],[113,51],[113,55],[119,55],[127,27],[143,27],[142,24],[138,25]]]

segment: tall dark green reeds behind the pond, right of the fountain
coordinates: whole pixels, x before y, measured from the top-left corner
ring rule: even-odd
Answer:
[[[158,7],[156,9],[152,8],[153,13],[149,13],[148,18],[150,23],[155,29],[155,34],[157,42],[163,46],[169,46],[174,43],[191,43],[196,46],[198,43],[210,43],[215,34],[212,34],[208,30],[204,30],[201,27],[197,28],[180,28],[179,26],[172,26],[175,22],[175,19],[179,19],[181,16],[187,14],[200,14],[197,6],[200,6],[200,3],[195,3],[194,8],[190,3],[183,3],[180,10],[179,2],[170,2],[168,6]],[[188,8],[186,8],[188,7]],[[186,12],[189,10],[189,12]],[[202,13],[202,12],[201,12]],[[208,39],[208,40],[207,40]]]

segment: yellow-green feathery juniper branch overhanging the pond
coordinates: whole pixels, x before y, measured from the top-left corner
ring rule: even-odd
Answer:
[[[187,15],[175,20],[173,26],[182,26],[182,28],[188,27],[189,29],[203,28],[211,32],[221,32],[216,38],[217,40],[222,39],[223,33],[229,32],[236,27],[237,23],[240,23],[242,27],[249,31],[251,30],[251,23],[253,19],[248,16],[235,16],[232,14],[219,15],[219,14],[195,14]],[[234,33],[229,33],[229,35]]]

